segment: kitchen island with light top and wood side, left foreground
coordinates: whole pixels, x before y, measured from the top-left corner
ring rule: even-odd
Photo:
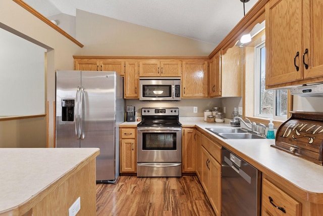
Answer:
[[[97,148],[0,149],[0,215],[96,215]]]

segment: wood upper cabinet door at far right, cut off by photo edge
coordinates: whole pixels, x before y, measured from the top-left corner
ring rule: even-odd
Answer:
[[[304,79],[307,79],[323,76],[323,1],[303,1],[303,9],[304,46],[301,54],[304,55]]]

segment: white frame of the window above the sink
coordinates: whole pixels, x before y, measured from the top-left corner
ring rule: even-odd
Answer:
[[[255,72],[254,72],[254,116],[260,117],[260,118],[273,118],[274,120],[286,120],[287,116],[278,116],[277,115],[277,107],[276,107],[276,93],[277,90],[274,91],[274,101],[273,101],[273,107],[274,107],[274,114],[261,114],[260,113],[260,50],[261,48],[265,47],[265,41],[261,42],[259,45],[254,47],[254,53],[255,53]]]

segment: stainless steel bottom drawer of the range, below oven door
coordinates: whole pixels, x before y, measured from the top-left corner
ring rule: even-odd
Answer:
[[[137,177],[181,177],[182,163],[137,163]]]

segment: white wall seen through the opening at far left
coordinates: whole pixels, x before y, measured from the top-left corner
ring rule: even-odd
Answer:
[[[0,117],[45,114],[46,50],[2,28],[0,47]]]

